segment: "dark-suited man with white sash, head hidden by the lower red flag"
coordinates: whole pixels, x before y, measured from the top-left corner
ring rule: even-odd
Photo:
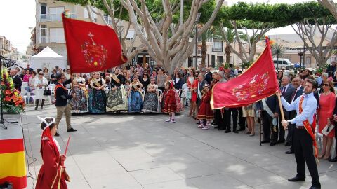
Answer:
[[[262,143],[270,142],[270,130],[274,127],[272,120],[279,117],[279,102],[276,95],[262,99],[256,103],[256,109],[261,113],[263,122],[263,141]],[[274,146],[276,142],[270,142],[270,146]]]

